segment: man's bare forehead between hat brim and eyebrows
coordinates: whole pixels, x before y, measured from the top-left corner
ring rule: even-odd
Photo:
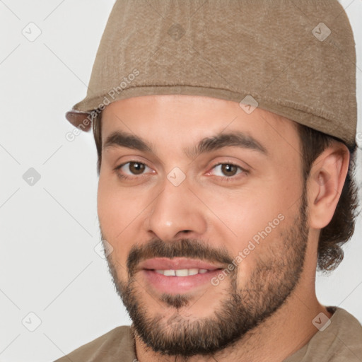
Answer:
[[[146,95],[118,100],[102,115],[102,139],[123,131],[160,143],[163,148],[192,145],[209,136],[243,132],[264,148],[298,154],[296,123],[256,108],[247,114],[239,103],[199,95]],[[289,151],[288,151],[289,149]]]

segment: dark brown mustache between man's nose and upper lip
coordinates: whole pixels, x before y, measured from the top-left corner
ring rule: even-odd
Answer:
[[[208,262],[231,264],[233,258],[225,248],[215,248],[200,243],[197,239],[181,239],[166,243],[160,239],[153,239],[144,245],[134,245],[127,257],[127,269],[132,276],[137,265],[155,257],[187,257]]]

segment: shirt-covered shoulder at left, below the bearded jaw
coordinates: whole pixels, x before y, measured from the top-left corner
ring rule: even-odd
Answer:
[[[84,344],[55,362],[133,362],[135,359],[131,327],[122,326]]]

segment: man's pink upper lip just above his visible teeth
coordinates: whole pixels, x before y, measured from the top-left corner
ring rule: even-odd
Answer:
[[[153,259],[146,259],[139,263],[139,269],[153,269],[153,270],[177,270],[177,269],[208,269],[215,270],[221,269],[223,266],[218,264],[211,264],[210,262],[203,262],[198,259],[187,259],[185,257],[175,257],[168,259],[166,257],[156,257]]]

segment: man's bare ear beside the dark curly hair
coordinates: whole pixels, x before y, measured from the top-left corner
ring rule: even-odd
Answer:
[[[310,228],[322,229],[329,224],[349,168],[349,149],[334,141],[313,162],[308,182]]]

